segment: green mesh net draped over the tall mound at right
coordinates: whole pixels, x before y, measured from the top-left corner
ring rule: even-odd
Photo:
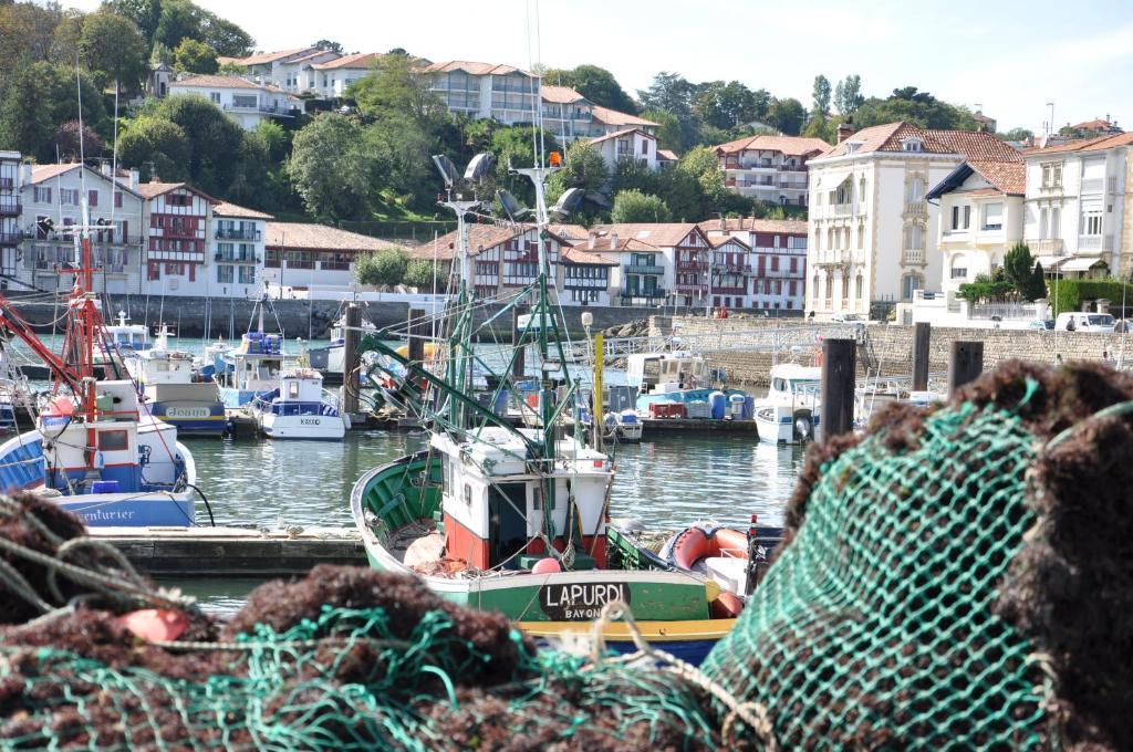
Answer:
[[[1034,524],[1034,458],[1019,417],[972,404],[912,446],[881,433],[845,451],[705,670],[785,749],[1042,745],[1034,648],[993,609]]]

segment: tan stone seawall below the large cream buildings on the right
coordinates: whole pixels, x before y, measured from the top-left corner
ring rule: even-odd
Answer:
[[[808,328],[813,332],[813,345],[795,348],[794,358],[809,365],[819,348],[819,337],[853,337],[852,326],[844,324],[804,324],[802,322],[783,322],[761,318],[729,318],[726,321],[662,317],[650,318],[653,334],[670,334],[674,326],[683,334],[727,333],[722,342],[730,347],[742,347],[744,333],[751,334],[752,342],[767,341],[767,332],[776,326],[783,330]],[[895,324],[870,324],[866,328],[874,357],[886,376],[910,376],[912,374],[912,326]],[[1097,360],[1108,356],[1116,360],[1122,348],[1123,337],[1133,335],[1098,334],[1090,332],[1036,331],[1036,330],[986,330],[986,328],[945,328],[932,327],[929,345],[929,370],[947,371],[948,356],[954,341],[977,341],[983,343],[983,368],[990,370],[998,364],[1012,359],[1034,360],[1055,364],[1056,356],[1063,361]],[[1126,357],[1133,359],[1133,339],[1126,343]],[[713,351],[705,348],[708,360],[714,367],[722,367],[729,374],[729,381],[736,385],[766,386],[767,375],[772,367],[770,352],[753,352],[733,350],[729,352]],[[790,359],[790,354],[780,353],[780,361]],[[864,375],[859,358],[859,373]]]

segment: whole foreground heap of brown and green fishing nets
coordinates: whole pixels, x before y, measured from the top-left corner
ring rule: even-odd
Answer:
[[[265,584],[216,624],[0,546],[2,587],[42,599],[0,601],[0,749],[1133,749],[1131,400],[1124,374],[1007,364],[812,447],[700,672],[536,651],[366,570]],[[125,571],[46,505],[0,512],[0,540]],[[122,614],[146,607],[184,633],[137,636]]]

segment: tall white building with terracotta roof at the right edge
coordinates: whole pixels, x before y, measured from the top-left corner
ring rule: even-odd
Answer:
[[[1025,152],[1024,236],[1047,273],[1126,275],[1133,270],[1133,134]]]

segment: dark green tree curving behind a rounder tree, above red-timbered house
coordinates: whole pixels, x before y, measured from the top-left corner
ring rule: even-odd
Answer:
[[[207,194],[222,196],[241,169],[244,131],[220,108],[196,95],[171,96],[155,110],[180,126],[189,139],[189,180]]]

